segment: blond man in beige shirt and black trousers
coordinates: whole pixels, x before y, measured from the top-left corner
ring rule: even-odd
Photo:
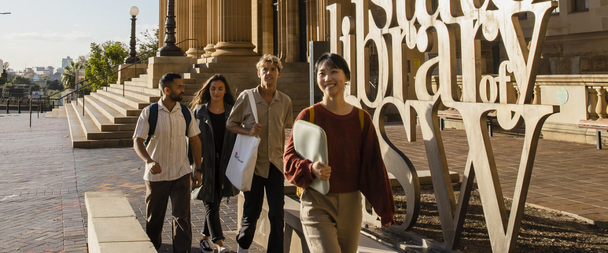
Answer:
[[[241,135],[258,135],[258,157],[250,191],[243,192],[243,218],[237,235],[238,252],[247,252],[254,240],[255,226],[264,202],[264,189],[268,201],[268,220],[271,231],[267,252],[283,252],[283,151],[285,128],[293,123],[291,99],[277,90],[281,76],[280,59],[264,55],[256,65],[261,84],[253,91],[259,123],[255,123],[247,92],[241,92],[226,123],[226,128]]]

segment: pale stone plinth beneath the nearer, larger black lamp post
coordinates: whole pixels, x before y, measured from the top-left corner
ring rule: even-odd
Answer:
[[[192,69],[192,58],[188,56],[151,57],[148,64],[148,88],[157,89],[158,81],[166,73],[188,73]]]

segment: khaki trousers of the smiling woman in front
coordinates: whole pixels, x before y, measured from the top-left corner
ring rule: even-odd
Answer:
[[[361,192],[320,194],[304,189],[300,220],[310,252],[356,253],[363,218]]]

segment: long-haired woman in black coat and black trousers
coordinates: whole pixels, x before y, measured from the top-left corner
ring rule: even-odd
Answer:
[[[223,197],[238,194],[238,189],[226,177],[226,166],[237,134],[226,130],[226,120],[234,105],[230,86],[222,75],[207,79],[188,106],[192,109],[201,133],[202,184],[193,189],[192,198],[202,200],[207,209],[203,222],[201,252],[213,252],[212,243],[219,246],[218,252],[230,252],[224,246],[224,234],[219,220],[219,204]],[[190,150],[190,149],[188,149]],[[192,157],[192,156],[190,156]],[[191,158],[192,159],[192,158]],[[209,241],[211,237],[211,241]]]

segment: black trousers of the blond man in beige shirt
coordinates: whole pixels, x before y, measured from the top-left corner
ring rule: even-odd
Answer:
[[[283,206],[285,206],[284,180],[283,173],[271,163],[268,178],[254,175],[251,190],[243,192],[245,197],[243,218],[241,219],[241,230],[237,235],[237,242],[241,248],[249,249],[254,240],[255,227],[258,218],[260,218],[262,204],[264,203],[264,189],[266,189],[268,220],[270,221],[270,234],[266,252],[283,252],[283,229],[285,228],[285,221],[283,220],[283,217],[285,217],[283,212]]]

